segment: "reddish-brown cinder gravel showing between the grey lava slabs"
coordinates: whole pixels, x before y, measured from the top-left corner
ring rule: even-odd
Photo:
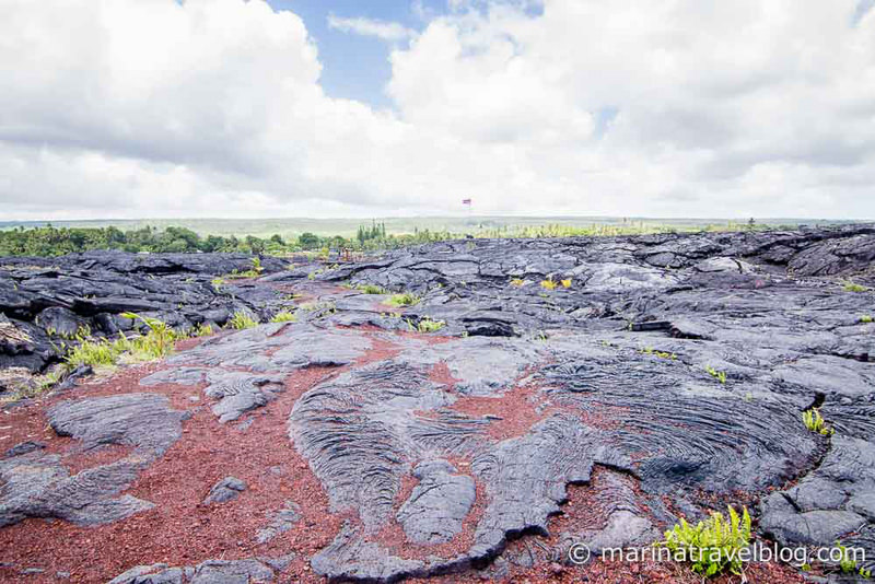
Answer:
[[[378,329],[368,329],[372,350],[357,365],[396,355],[397,344],[378,338]],[[382,332],[382,331],[381,331]],[[447,338],[400,334],[425,339],[430,343],[445,342]],[[180,349],[188,349],[199,339],[184,341]],[[188,410],[191,419],[183,423],[183,437],[167,453],[144,470],[126,491],[128,494],[155,503],[154,509],[137,514],[126,521],[100,527],[75,527],[61,521],[27,519],[18,525],[0,529],[0,580],[3,582],[57,582],[58,572],[68,573],[66,582],[106,582],[139,565],[156,562],[170,565],[192,565],[208,559],[243,559],[252,557],[281,557],[294,551],[296,558],[282,576],[282,582],[324,582],[312,573],[308,559],[326,546],[340,529],[343,521],[358,522],[358,517],[328,512],[328,498],[306,462],[292,447],[288,436],[288,419],[295,400],[319,382],[341,373],[345,367],[314,367],[291,375],[285,392],[269,406],[248,414],[253,425],[241,431],[238,422],[219,424],[209,410],[199,386],[165,384],[140,387],[140,378],[163,369],[162,364],[126,367],[108,381],[85,384],[74,392],[54,396],[0,413],[0,452],[27,440],[47,444],[46,452],[59,454],[72,472],[124,458],[131,448],[104,447],[83,452],[80,444],[68,437],[59,437],[48,427],[45,410],[51,405],[72,397],[96,397],[130,392],[159,393],[168,396],[174,408]],[[446,365],[432,371],[431,378],[454,384]],[[524,434],[548,412],[536,411],[534,386],[516,386],[499,398],[462,397],[454,409],[471,416],[498,416],[502,420],[490,424],[489,435],[495,440]],[[197,396],[198,401],[190,399]],[[470,460],[451,459],[460,472],[467,472]],[[599,472],[594,475],[597,486]],[[224,477],[243,479],[248,488],[230,504],[206,507],[201,501],[210,488]],[[396,509],[409,497],[416,479],[409,477],[396,497]],[[277,536],[266,545],[258,545],[254,537],[259,528],[270,522],[269,514],[279,511],[285,501],[301,506],[303,518],[295,526]],[[487,493],[477,484],[477,499],[472,512],[466,518],[463,532],[452,541],[428,549],[407,541],[400,526],[394,521],[378,535],[377,540],[405,558],[422,559],[438,554],[452,558],[466,549],[472,538],[477,522],[486,507]],[[604,517],[598,509],[597,489],[575,488],[569,490],[569,503],[563,513],[552,519],[550,532],[562,533],[572,528],[597,528]],[[528,536],[535,537],[535,536]],[[540,538],[545,544],[556,545],[553,538]],[[522,541],[510,546],[522,545]],[[40,574],[22,576],[23,569],[44,570]],[[535,569],[515,569],[512,583],[645,583],[677,582],[693,584],[700,579],[688,570],[674,564],[630,563],[596,561],[584,568],[568,568],[544,564]],[[765,583],[802,582],[791,569],[777,564],[754,564],[747,572],[748,581]],[[428,581],[458,583],[476,582],[474,576],[443,576]],[[737,577],[722,577],[714,582],[728,584],[739,582]]]

